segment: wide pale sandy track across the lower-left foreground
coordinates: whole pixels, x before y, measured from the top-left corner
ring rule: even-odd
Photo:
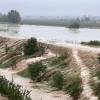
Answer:
[[[30,83],[31,80],[27,78],[20,77],[16,74],[12,74],[8,69],[1,70],[1,75],[5,76],[8,80],[13,81],[16,84],[22,85],[24,89],[31,91],[30,97],[32,100],[71,100],[68,95],[65,95],[63,92],[50,92],[42,89],[32,88],[33,83]]]

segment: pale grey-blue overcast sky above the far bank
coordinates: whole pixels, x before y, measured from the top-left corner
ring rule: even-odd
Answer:
[[[0,0],[0,12],[22,16],[100,16],[100,0]]]

